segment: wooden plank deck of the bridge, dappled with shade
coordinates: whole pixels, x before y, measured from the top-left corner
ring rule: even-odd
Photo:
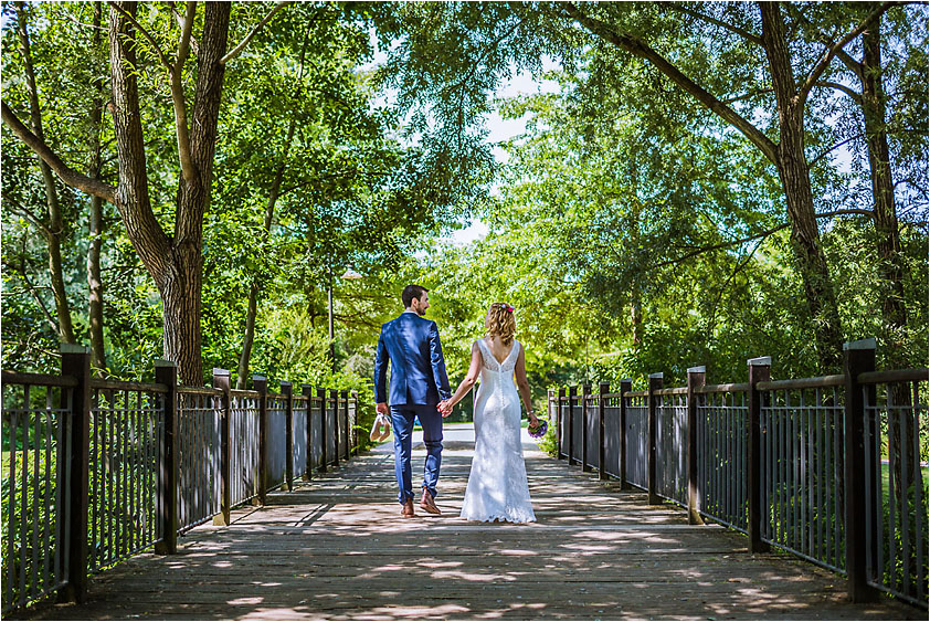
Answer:
[[[651,506],[525,444],[538,523],[464,521],[473,443],[447,426],[437,503],[400,517],[391,445],[201,526],[177,555],[142,554],[92,579],[84,604],[35,620],[137,619],[817,619],[926,620],[883,598],[847,600],[845,581],[788,554],[750,554],[719,526]],[[527,439],[528,441],[528,439]],[[414,451],[415,464],[425,452]]]

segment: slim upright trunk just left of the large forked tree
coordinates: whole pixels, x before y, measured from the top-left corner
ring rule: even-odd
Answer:
[[[103,9],[94,2],[94,57],[101,52],[101,22]],[[95,64],[94,71],[98,71]],[[103,120],[103,77],[94,80],[97,94],[91,105],[91,162],[87,175],[101,178],[101,124]],[[91,327],[91,369],[106,376],[106,350],[104,348],[104,286],[101,278],[101,250],[103,246],[103,205],[99,197],[91,197],[89,233],[87,245],[87,318]]]

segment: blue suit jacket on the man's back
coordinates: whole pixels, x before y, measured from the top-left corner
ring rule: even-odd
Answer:
[[[385,382],[391,362],[391,391]],[[415,313],[381,326],[374,357],[374,398],[391,405],[435,405],[452,397],[445,372],[440,329],[432,319]]]

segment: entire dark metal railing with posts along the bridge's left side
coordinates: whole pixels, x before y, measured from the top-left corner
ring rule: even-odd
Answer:
[[[157,361],[154,383],[96,379],[75,346],[60,376],[2,372],[4,614],[56,592],[81,601],[88,574],[172,554],[197,525],[229,524],[232,507],[356,451],[357,393],[271,393],[257,376],[235,391],[229,378],[179,387]]]

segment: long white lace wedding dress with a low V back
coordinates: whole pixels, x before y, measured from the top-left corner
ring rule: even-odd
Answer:
[[[475,398],[475,457],[462,502],[462,518],[509,523],[536,520],[520,443],[520,397],[514,367],[520,342],[514,341],[504,362],[497,362],[484,339],[477,340],[484,362]]]

